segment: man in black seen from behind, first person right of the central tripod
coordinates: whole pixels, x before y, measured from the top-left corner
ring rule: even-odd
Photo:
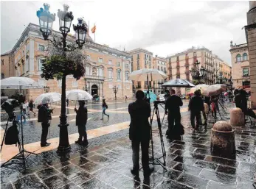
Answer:
[[[174,122],[175,125],[181,125],[181,112],[179,107],[183,106],[183,102],[181,100],[181,97],[176,96],[175,93],[175,90],[171,89],[170,96],[165,101],[165,114],[168,113],[168,129],[166,132],[167,136],[170,136],[171,130],[174,126]]]

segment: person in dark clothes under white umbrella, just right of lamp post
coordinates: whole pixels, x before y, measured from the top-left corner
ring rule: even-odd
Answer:
[[[88,139],[87,139],[87,133],[86,133],[86,123],[88,118],[88,111],[85,107],[86,102],[85,101],[78,101],[79,108],[75,108],[75,112],[77,113],[77,116],[75,118],[75,124],[78,126],[78,133],[79,138],[75,143],[83,144],[85,146],[88,146]]]

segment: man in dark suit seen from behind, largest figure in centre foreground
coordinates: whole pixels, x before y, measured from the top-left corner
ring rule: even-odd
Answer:
[[[149,140],[151,140],[151,126],[148,118],[151,117],[151,105],[144,100],[142,90],[136,92],[136,101],[129,104],[128,111],[131,116],[129,138],[131,140],[134,163],[131,174],[139,175],[139,145],[142,146],[142,168],[144,174],[151,174],[153,169],[149,167],[148,163]]]

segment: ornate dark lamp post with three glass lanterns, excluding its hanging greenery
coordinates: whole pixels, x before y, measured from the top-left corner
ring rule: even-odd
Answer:
[[[66,4],[63,5],[63,10],[58,10],[58,18],[60,24],[59,29],[62,34],[62,38],[60,38],[61,41],[57,42],[55,38],[53,38],[53,40],[49,39],[49,35],[52,34],[52,24],[55,21],[55,14],[49,12],[49,7],[49,4],[44,4],[44,8],[40,8],[40,10],[38,10],[36,13],[39,18],[40,31],[42,32],[44,40],[49,40],[52,45],[55,46],[55,48],[61,49],[63,57],[66,57],[66,51],[82,49],[83,44],[86,41],[87,32],[86,25],[83,24],[82,18],[78,18],[78,24],[76,26],[73,25],[76,33],[76,43],[78,47],[75,47],[74,44],[72,46],[67,46],[66,44],[66,36],[70,32],[70,27],[74,19],[72,12],[68,12],[69,6]],[[58,146],[59,152],[70,149],[69,134],[67,129],[67,126],[69,126],[69,124],[67,124],[66,122],[66,117],[66,74],[63,74],[61,84],[60,124],[58,125],[60,127],[60,140]]]

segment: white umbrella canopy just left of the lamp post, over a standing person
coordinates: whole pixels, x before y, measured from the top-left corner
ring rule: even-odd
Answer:
[[[44,93],[36,97],[34,104],[48,104],[61,100],[60,93]]]

